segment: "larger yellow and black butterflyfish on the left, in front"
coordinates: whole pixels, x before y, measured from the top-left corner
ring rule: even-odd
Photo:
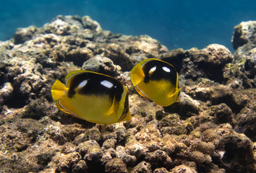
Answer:
[[[51,87],[57,107],[92,123],[111,124],[131,120],[127,87],[105,74],[73,71]]]

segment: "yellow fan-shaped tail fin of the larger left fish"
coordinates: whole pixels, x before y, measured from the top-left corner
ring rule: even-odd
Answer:
[[[57,101],[61,97],[67,95],[67,92],[68,88],[58,79],[54,82],[54,85],[51,86],[51,96],[53,97],[54,101]]]

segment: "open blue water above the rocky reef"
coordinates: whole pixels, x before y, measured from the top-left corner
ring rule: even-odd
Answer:
[[[169,49],[218,43],[233,51],[234,26],[256,20],[255,0],[0,0],[0,40],[17,27],[42,27],[57,15],[89,15],[103,30],[150,35]]]

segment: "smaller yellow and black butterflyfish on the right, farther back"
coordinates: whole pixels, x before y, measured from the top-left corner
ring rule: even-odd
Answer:
[[[170,63],[145,59],[132,68],[131,80],[140,95],[158,105],[166,107],[179,102],[179,75]]]

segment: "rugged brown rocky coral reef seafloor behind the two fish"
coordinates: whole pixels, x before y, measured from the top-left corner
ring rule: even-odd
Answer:
[[[234,54],[168,50],[78,16],[18,29],[0,42],[0,172],[255,172],[256,22],[237,25],[232,43]],[[129,71],[145,58],[176,67],[179,103],[137,94]],[[81,68],[128,87],[131,121],[96,125],[56,107],[52,84]]]

